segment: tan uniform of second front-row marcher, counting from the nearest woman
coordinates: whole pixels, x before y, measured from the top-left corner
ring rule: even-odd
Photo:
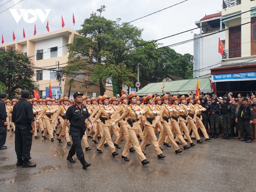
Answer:
[[[140,146],[141,150],[144,151],[148,140],[150,138],[152,145],[154,146],[154,149],[156,151],[157,155],[162,154],[161,149],[159,148],[159,145],[157,143],[157,138],[154,132],[154,127],[155,127],[155,115],[152,113],[153,111],[156,112],[156,115],[159,114],[159,111],[156,110],[156,108],[152,105],[144,105],[143,110],[146,111],[144,114],[146,121],[144,123],[144,129],[146,129],[144,139],[142,140]]]

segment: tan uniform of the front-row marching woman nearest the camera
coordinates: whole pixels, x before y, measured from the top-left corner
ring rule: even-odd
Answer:
[[[118,123],[122,119],[125,118],[125,121],[129,121],[130,123],[127,123],[127,129],[129,133],[129,138],[124,146],[122,156],[127,157],[129,153],[130,146],[133,145],[136,153],[138,154],[141,161],[145,160],[146,157],[143,155],[138,138],[137,138],[137,132],[140,129],[140,124],[137,121],[137,115],[136,111],[139,111],[142,115],[145,114],[146,111],[142,110],[139,105],[129,105],[127,108],[124,109],[123,114],[117,118],[114,122]],[[131,126],[132,125],[132,126]]]

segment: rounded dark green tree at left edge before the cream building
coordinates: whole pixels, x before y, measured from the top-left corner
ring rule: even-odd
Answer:
[[[9,98],[20,95],[22,89],[33,93],[32,67],[31,60],[17,50],[0,50],[0,82]]]

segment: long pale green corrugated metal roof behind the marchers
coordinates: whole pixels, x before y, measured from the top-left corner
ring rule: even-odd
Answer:
[[[195,79],[186,79],[178,81],[169,81],[169,82],[157,82],[149,83],[142,89],[136,92],[139,96],[144,96],[149,93],[162,95],[162,91],[169,92],[173,94],[187,94],[190,91],[195,93],[196,91],[197,78]],[[164,89],[161,89],[164,86]],[[202,92],[211,92],[211,84],[209,78],[199,78],[199,88]]]

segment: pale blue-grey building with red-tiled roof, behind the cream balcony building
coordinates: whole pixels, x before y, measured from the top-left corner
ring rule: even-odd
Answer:
[[[195,24],[200,27],[200,34],[194,34],[194,78],[209,75],[211,67],[221,66],[218,38],[225,44],[225,33],[221,32],[225,27],[221,22],[221,13],[205,15]]]

